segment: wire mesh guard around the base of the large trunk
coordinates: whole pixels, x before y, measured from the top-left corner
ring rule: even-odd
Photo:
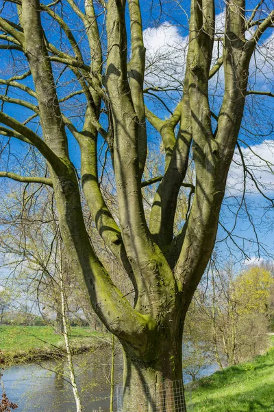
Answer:
[[[116,386],[118,412],[192,412],[190,387],[184,389],[182,380],[134,387]],[[139,394],[142,396],[139,398]]]

